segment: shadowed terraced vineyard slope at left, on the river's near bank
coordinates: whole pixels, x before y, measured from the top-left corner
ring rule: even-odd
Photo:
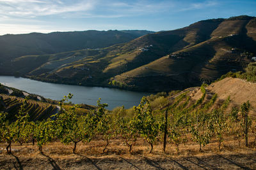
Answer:
[[[17,115],[20,107],[24,103],[26,103],[24,112],[29,114],[29,120],[32,121],[47,119],[60,111],[59,101],[45,99],[42,96],[29,94],[28,92],[0,84],[0,112],[8,113],[7,119],[10,120],[10,122],[16,119],[15,115]],[[93,106],[86,104],[79,104],[79,107],[80,108],[77,109],[79,114],[84,114],[87,113],[88,110],[94,109]],[[63,108],[68,110],[70,104],[66,104]]]

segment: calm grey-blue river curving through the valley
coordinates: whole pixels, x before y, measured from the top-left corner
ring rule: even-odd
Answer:
[[[83,87],[78,85],[45,83],[28,78],[15,78],[13,76],[0,76],[0,83],[8,87],[14,87],[31,94],[38,94],[54,100],[60,100],[68,93],[72,93],[74,97],[72,97],[71,101],[76,104],[84,103],[96,105],[100,97],[102,99],[101,103],[108,103],[109,110],[122,105],[124,105],[125,108],[138,106],[141,97],[149,95],[145,92],[131,92],[128,90],[104,87]]]

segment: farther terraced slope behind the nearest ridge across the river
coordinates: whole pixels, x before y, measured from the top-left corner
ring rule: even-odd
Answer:
[[[60,76],[61,79],[69,78],[70,76],[74,78],[74,75],[77,75],[75,79],[81,80],[82,78],[83,80],[87,80],[84,76],[93,77],[97,76],[97,73],[100,73],[100,77],[106,76],[106,78],[110,78],[116,74],[122,74],[125,71],[130,71],[136,67],[148,64],[170,52],[175,52],[175,50],[181,50],[182,48],[186,48],[186,46],[195,45],[198,42],[204,41],[211,36],[211,32],[218,27],[221,21],[221,19],[205,20],[191,24],[189,27],[184,27],[183,29],[148,34],[128,43],[90,50],[95,51],[95,55],[92,56],[89,61],[88,56],[90,55],[85,54],[88,53],[88,49],[79,51],[83,53],[83,55],[79,55],[81,58],[77,57],[76,52],[54,54],[54,56],[60,57],[52,57],[52,55],[49,55],[52,59],[44,60],[40,63],[42,64],[41,66],[31,68],[29,74],[38,76],[38,74],[41,73],[42,75],[40,76],[42,78],[52,79],[58,76]],[[97,52],[100,53],[99,56],[97,56]],[[44,55],[40,58],[49,58],[49,56],[47,56],[45,57]],[[74,59],[74,56],[76,56],[77,60],[72,63],[68,62],[70,61],[69,59]],[[28,58],[31,57],[20,57],[16,59],[13,64],[19,67],[22,65],[20,62],[22,62],[22,60],[28,60]],[[65,64],[67,64],[66,67]],[[90,69],[93,69],[93,73],[90,73]],[[47,72],[46,77],[44,76],[44,72]],[[97,73],[95,74],[95,72]],[[72,75],[67,75],[67,73],[72,73]],[[81,74],[84,76],[79,76]]]

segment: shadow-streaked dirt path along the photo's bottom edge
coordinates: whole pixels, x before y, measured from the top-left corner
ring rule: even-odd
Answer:
[[[0,169],[255,169],[255,158],[256,153],[211,153],[188,157],[168,155],[86,157],[72,154],[65,158],[54,158],[40,153],[31,158],[19,158],[14,153],[0,157]]]

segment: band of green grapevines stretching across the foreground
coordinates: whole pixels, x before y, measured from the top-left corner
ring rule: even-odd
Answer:
[[[138,106],[133,107],[132,117],[125,117],[124,107],[118,113],[106,110],[108,104],[97,101],[97,109],[89,111],[85,115],[77,115],[78,105],[73,104],[68,110],[63,105],[72,98],[72,94],[64,96],[60,101],[60,112],[52,115],[47,120],[40,122],[29,121],[26,113],[26,100],[20,106],[15,122],[10,123],[6,116],[8,113],[0,113],[0,141],[7,143],[6,150],[12,153],[12,143],[31,142],[38,146],[42,153],[43,146],[51,141],[60,141],[65,145],[74,145],[73,153],[76,153],[77,143],[90,143],[95,136],[100,136],[106,145],[104,153],[109,145],[109,140],[117,136],[122,138],[128,146],[129,152],[138,138],[143,138],[150,146],[150,153],[156,141],[163,141],[163,150],[166,141],[173,143],[179,153],[179,145],[186,144],[189,140],[195,141],[202,148],[214,138],[218,141],[218,149],[227,135],[235,136],[239,145],[244,138],[248,146],[248,134],[252,131],[252,118],[250,117],[250,103],[241,104],[240,108],[232,108],[227,113],[230,103],[228,97],[218,108],[214,107],[217,95],[205,101],[205,85],[201,87],[200,99],[191,102],[188,92],[175,98],[172,105],[153,110],[147,97],[143,97]],[[255,135],[255,133],[253,133]],[[254,136],[254,145],[256,136]]]

